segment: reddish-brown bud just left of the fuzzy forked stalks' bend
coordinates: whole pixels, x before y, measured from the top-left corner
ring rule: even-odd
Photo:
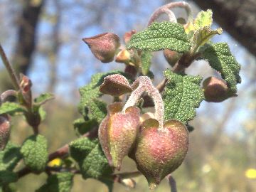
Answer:
[[[120,96],[127,92],[132,92],[132,87],[123,75],[113,74],[104,78],[102,85],[100,85],[100,92],[107,95]]]

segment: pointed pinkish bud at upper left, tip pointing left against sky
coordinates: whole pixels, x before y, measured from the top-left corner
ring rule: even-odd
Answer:
[[[83,38],[89,46],[93,55],[102,63],[110,63],[114,60],[114,55],[120,46],[119,37],[114,33],[102,33],[90,38]]]

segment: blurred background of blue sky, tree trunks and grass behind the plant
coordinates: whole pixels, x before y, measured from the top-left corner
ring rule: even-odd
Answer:
[[[0,42],[18,73],[33,82],[33,95],[53,92],[55,100],[46,105],[48,112],[40,131],[49,140],[49,152],[76,138],[73,120],[79,117],[78,88],[91,75],[110,69],[124,69],[120,63],[102,64],[94,58],[82,38],[112,32],[122,37],[126,31],[141,31],[151,13],[170,1],[157,0],[0,0]],[[242,65],[242,84],[238,97],[222,103],[202,102],[195,129],[190,134],[186,161],[173,174],[178,191],[243,192],[256,191],[256,2],[254,0],[188,1],[196,16],[201,9],[212,9],[213,28],[224,29],[213,41],[225,41]],[[175,9],[183,16],[183,10]],[[163,18],[164,19],[164,18]],[[154,83],[163,79],[169,68],[160,52],[154,54],[151,70]],[[214,75],[204,61],[188,68],[191,75]],[[0,65],[0,92],[11,82]],[[14,119],[11,141],[21,144],[32,134],[22,118]],[[125,159],[122,171],[136,170]],[[46,181],[46,175],[30,174],[18,181],[18,191],[34,191]],[[149,191],[143,176],[135,178],[136,188],[119,183],[114,191]],[[107,191],[93,179],[75,176],[73,191]],[[170,191],[162,181],[156,191]]]

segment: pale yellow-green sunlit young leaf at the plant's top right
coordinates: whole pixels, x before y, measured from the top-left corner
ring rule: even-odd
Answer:
[[[210,27],[213,24],[213,11],[208,9],[207,11],[200,11],[193,23],[195,31],[200,28]]]

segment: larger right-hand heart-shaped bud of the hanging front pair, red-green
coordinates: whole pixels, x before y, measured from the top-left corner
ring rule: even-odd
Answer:
[[[181,165],[188,151],[188,131],[177,120],[165,122],[159,129],[156,119],[146,119],[134,148],[137,169],[144,174],[149,188]]]

